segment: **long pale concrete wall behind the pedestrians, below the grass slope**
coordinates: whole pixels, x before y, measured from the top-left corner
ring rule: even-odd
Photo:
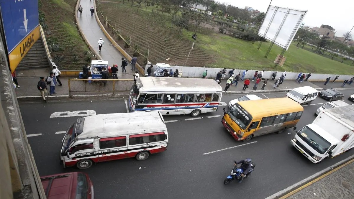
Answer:
[[[147,74],[146,70],[148,67],[151,65],[145,65],[145,74]],[[201,78],[202,73],[204,70],[208,70],[207,77],[208,78],[215,78],[216,74],[220,71],[222,71],[222,68],[203,68],[203,67],[187,67],[187,66],[171,66],[173,72],[178,69],[179,72],[182,72],[182,77],[183,78]],[[156,70],[156,65],[153,65],[152,73]],[[229,71],[232,69],[226,69],[226,76],[229,77]],[[239,73],[242,74],[244,70],[239,70],[235,69],[234,73],[237,75]],[[253,78],[253,75],[255,74],[256,70],[248,70],[246,73],[245,78]],[[261,72],[261,70],[258,70],[258,73]],[[263,78],[272,78],[272,74],[275,72],[274,71],[264,71],[263,73]],[[279,78],[281,74],[284,71],[278,71],[276,78]],[[305,73],[306,75],[308,73]],[[290,79],[296,79],[299,73],[290,73],[286,72],[285,79],[290,80]],[[326,78],[331,77],[331,80],[334,79],[334,77],[337,76],[336,74],[316,74],[312,73],[308,81],[326,81]],[[354,75],[339,75],[338,79],[336,81],[344,81],[344,80],[349,80],[350,78],[354,77]]]

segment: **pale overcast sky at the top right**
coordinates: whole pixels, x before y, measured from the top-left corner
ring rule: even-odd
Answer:
[[[239,8],[245,6],[255,10],[266,12],[270,0],[216,0],[228,3]],[[273,0],[272,6],[289,7],[298,10],[307,10],[302,22],[310,27],[320,27],[321,24],[330,25],[336,29],[336,36],[350,31],[354,25],[354,1],[353,0]],[[354,29],[351,32],[354,36]]]

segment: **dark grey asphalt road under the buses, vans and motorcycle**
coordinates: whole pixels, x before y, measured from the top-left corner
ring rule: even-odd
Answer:
[[[342,90],[347,97],[354,89]],[[262,98],[284,97],[286,93],[257,94]],[[244,95],[244,94],[243,94]],[[224,95],[222,102],[241,95]],[[317,98],[304,107],[298,127],[311,123],[314,112],[322,103]],[[97,114],[126,112],[123,100],[20,103],[24,125],[41,176],[79,171],[59,165],[61,141],[75,116],[50,118],[54,112],[95,110]],[[69,113],[70,114],[70,113]],[[313,164],[295,150],[290,140],[292,129],[284,133],[253,138],[250,144],[237,142],[221,124],[222,107],[217,112],[201,114],[200,119],[189,115],[164,116],[169,130],[169,148],[150,155],[145,161],[133,158],[98,163],[84,171],[95,187],[95,198],[265,198],[316,172],[343,160],[353,152],[344,153],[321,164]],[[219,116],[218,116],[219,115]],[[59,134],[56,134],[59,132]],[[252,143],[253,142],[253,143]],[[242,145],[242,146],[240,146]],[[220,149],[231,149],[205,154]],[[223,180],[233,167],[233,161],[251,158],[256,163],[252,176],[242,183],[224,185]]]

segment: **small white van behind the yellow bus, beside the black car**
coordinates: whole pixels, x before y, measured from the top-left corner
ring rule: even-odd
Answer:
[[[318,91],[311,86],[298,87],[286,93],[286,97],[291,98],[301,105],[314,101],[317,96]]]

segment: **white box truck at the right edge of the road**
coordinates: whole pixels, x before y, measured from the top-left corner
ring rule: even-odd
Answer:
[[[296,130],[296,127],[294,127]],[[307,159],[319,163],[354,147],[354,105],[322,110],[290,141]]]

